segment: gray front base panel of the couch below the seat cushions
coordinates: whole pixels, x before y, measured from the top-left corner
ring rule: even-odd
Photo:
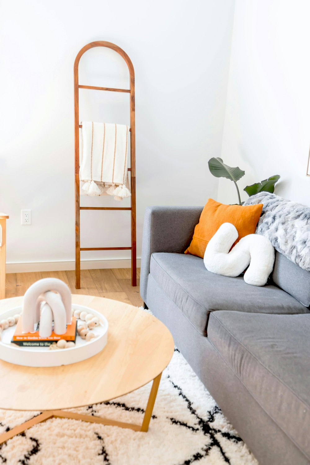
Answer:
[[[152,276],[148,279],[146,304],[168,326],[178,349],[260,465],[309,465],[309,460],[257,403],[209,339],[197,332]],[[287,421],[298,431],[294,416],[288,415]]]

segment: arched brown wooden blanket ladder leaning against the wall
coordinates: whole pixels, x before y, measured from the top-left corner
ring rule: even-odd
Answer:
[[[130,89],[95,87],[79,85],[79,60],[83,53],[93,47],[108,47],[119,53],[125,60],[130,76]],[[93,89],[110,92],[130,93],[130,168],[131,205],[130,207],[86,207],[79,204],[79,89]],[[75,149],[75,287],[80,289],[80,252],[83,250],[131,250],[132,286],[137,286],[137,252],[136,252],[136,134],[135,134],[135,89],[134,70],[128,55],[119,46],[106,41],[91,42],[84,46],[74,61],[74,149]],[[131,247],[81,247],[80,246],[80,210],[131,210]]]

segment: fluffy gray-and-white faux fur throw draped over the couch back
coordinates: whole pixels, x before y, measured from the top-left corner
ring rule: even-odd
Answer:
[[[252,195],[244,205],[262,203],[256,233],[304,270],[310,271],[310,207],[269,192]]]

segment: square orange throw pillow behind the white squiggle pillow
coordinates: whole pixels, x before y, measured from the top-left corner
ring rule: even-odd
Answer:
[[[236,242],[248,234],[254,234],[263,210],[263,204],[258,205],[224,205],[209,199],[201,212],[199,223],[195,226],[190,246],[184,253],[190,253],[204,258],[205,248],[209,240],[223,223],[233,224],[239,235]]]

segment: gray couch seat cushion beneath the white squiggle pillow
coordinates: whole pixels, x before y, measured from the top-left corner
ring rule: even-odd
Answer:
[[[150,274],[201,334],[215,310],[262,313],[309,313],[277,286],[251,286],[243,276],[228,278],[208,272],[203,259],[183,253],[153,253]]]

